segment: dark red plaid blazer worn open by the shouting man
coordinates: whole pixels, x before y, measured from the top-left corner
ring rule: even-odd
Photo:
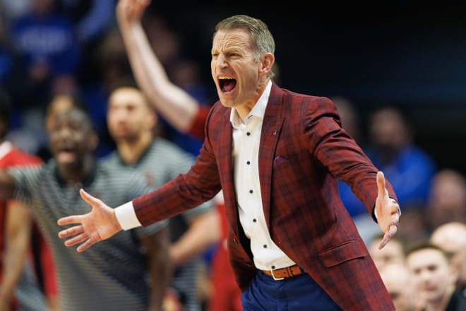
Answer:
[[[189,172],[134,199],[133,205],[139,221],[149,225],[191,209],[222,189],[230,262],[244,289],[257,270],[239,224],[229,115],[230,109],[216,102]],[[372,214],[378,170],[340,127],[333,102],[274,83],[258,158],[263,211],[273,241],[343,310],[395,310],[337,189],[337,178],[350,184]],[[396,198],[388,182],[387,187]]]

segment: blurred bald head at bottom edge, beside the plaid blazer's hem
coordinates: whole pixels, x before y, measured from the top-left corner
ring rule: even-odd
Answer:
[[[410,271],[405,264],[391,263],[380,269],[385,284],[397,311],[422,311],[422,301],[414,286]]]

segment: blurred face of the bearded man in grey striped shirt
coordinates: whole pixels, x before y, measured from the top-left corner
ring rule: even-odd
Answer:
[[[136,88],[119,88],[109,98],[107,125],[115,141],[136,141],[141,134],[152,132],[155,113]]]

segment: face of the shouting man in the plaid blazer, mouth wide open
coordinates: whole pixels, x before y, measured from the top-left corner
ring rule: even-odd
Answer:
[[[254,60],[246,30],[219,30],[212,45],[212,77],[225,107],[252,109],[261,96],[261,62]]]

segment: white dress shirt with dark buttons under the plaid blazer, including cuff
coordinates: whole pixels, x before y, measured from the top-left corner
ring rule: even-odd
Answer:
[[[272,81],[269,81],[261,98],[249,112],[245,122],[232,108],[230,122],[233,127],[234,188],[239,210],[239,222],[246,236],[251,239],[251,251],[256,268],[280,269],[294,262],[273,242],[263,213],[261,184],[259,182],[258,154],[265,107],[267,107]],[[141,225],[134,213],[132,202],[115,209],[117,219],[124,230]]]

